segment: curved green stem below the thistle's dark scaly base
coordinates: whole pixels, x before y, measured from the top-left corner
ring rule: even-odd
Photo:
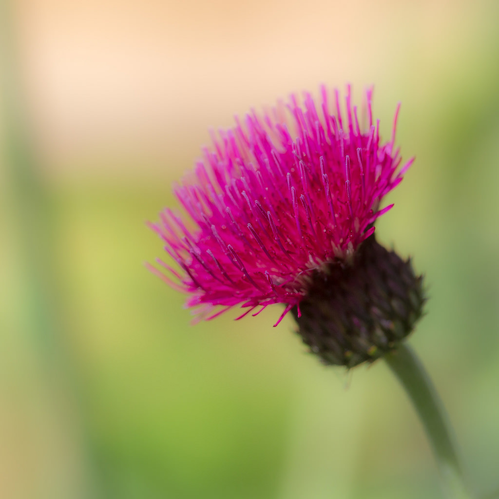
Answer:
[[[453,499],[470,499],[453,432],[440,397],[423,364],[406,343],[394,353],[385,355],[421,418],[433,447],[447,493]]]

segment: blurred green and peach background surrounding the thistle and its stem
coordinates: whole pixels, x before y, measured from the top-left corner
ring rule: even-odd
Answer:
[[[426,274],[410,342],[499,485],[499,3],[1,4],[0,497],[441,498],[383,362],[325,368],[278,307],[191,326],[145,227],[208,129],[375,84],[416,156],[378,237]],[[234,316],[234,314],[233,314]]]

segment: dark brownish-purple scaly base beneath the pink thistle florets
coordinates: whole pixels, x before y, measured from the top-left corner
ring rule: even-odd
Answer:
[[[338,260],[316,270],[307,296],[291,311],[313,353],[325,364],[351,368],[396,349],[424,302],[423,277],[410,259],[386,250],[372,235],[351,264]]]

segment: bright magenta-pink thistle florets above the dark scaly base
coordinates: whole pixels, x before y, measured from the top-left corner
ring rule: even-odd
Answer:
[[[292,95],[263,116],[213,138],[213,148],[175,194],[185,210],[170,209],[150,227],[163,239],[179,270],[158,259],[148,267],[189,295],[207,319],[241,306],[241,318],[282,303],[287,312],[307,295],[310,276],[332,262],[351,263],[373,234],[380,208],[413,159],[402,168],[394,149],[399,106],[389,142],[373,122],[366,91],[367,126],[359,124],[347,87],[346,117],[321,88],[318,105]],[[331,102],[332,100],[332,102]]]

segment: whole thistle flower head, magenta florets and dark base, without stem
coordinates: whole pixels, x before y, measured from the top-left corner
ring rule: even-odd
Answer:
[[[150,224],[180,269],[161,259],[161,270],[149,268],[206,319],[284,304],[274,326],[292,310],[327,363],[352,366],[393,348],[421,315],[421,278],[379,250],[374,223],[413,159],[399,168],[400,106],[382,142],[371,98],[368,89],[362,127],[349,86],[346,118],[338,91],[331,98],[325,87],[318,106],[305,93],[302,105],[292,95],[262,116],[236,118],[176,187],[185,214],[167,208]]]

